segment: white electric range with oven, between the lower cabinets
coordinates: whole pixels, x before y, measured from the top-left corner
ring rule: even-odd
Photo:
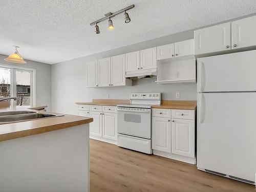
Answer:
[[[161,103],[161,93],[132,93],[131,104],[117,105],[117,145],[152,154],[151,106]]]

